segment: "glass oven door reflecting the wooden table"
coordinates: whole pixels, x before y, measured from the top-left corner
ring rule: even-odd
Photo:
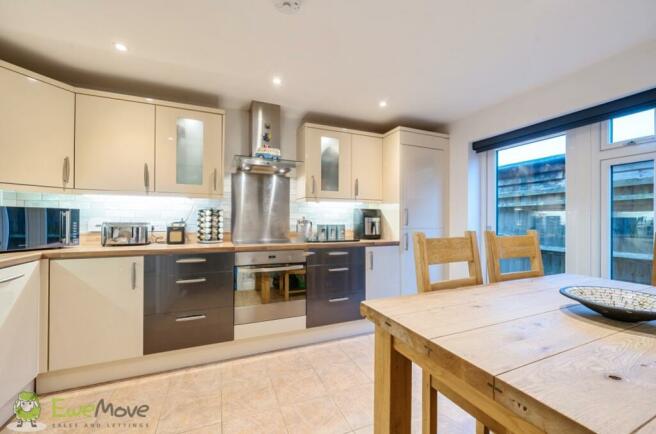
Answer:
[[[235,267],[235,325],[305,315],[305,264]]]

